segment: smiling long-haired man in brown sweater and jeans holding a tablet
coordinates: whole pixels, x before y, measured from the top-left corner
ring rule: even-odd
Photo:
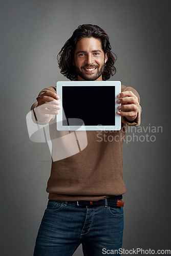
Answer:
[[[116,72],[115,60],[108,35],[90,24],[79,26],[58,54],[61,73],[79,81],[109,79]],[[89,91],[87,99],[89,104]],[[126,191],[122,143],[126,125],[140,124],[139,101],[136,90],[122,86],[117,100],[122,103],[117,111],[122,117],[122,129],[102,131],[114,140],[99,142],[96,131],[87,131],[88,145],[83,151],[52,161],[47,186],[49,202],[38,231],[34,256],[72,255],[80,244],[84,255],[99,256],[107,250],[108,253],[118,250],[119,254],[123,236],[121,200]],[[56,87],[42,90],[31,110],[34,110],[35,121],[49,123],[52,134],[53,120],[60,111]]]

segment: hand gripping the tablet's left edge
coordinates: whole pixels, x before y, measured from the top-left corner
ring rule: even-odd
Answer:
[[[46,91],[37,98],[37,106],[35,109],[36,118],[40,122],[44,122],[50,118],[50,115],[57,115],[59,106],[59,96],[51,91]]]

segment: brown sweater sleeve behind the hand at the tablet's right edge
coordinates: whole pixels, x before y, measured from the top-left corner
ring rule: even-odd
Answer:
[[[137,96],[138,102],[140,103],[140,96],[134,88],[126,87],[122,85],[122,92],[125,92],[125,91],[132,91]],[[139,126],[141,123],[141,106],[139,105],[137,117],[133,122],[130,122],[129,120],[126,119],[126,117],[122,116],[122,123],[125,123],[127,125]]]

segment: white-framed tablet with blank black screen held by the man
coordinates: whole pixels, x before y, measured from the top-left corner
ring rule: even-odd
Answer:
[[[120,81],[59,81],[58,131],[118,131],[121,117],[116,114]]]

